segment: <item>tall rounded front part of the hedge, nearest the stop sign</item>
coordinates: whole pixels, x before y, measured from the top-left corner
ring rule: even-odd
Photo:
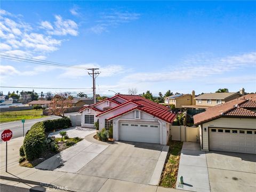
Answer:
[[[26,158],[31,161],[38,158],[44,150],[45,129],[38,122],[34,124],[23,141],[23,149]]]

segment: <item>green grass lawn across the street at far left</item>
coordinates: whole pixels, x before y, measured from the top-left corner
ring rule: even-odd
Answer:
[[[0,123],[21,121],[21,119],[42,118],[43,110],[22,110],[22,111],[7,111],[0,113]]]

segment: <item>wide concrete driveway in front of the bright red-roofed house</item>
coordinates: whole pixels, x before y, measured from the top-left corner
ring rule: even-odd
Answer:
[[[94,134],[87,135],[75,146],[35,168],[66,172],[54,181],[57,185],[66,179],[68,182],[68,177],[91,180],[91,187],[103,185],[108,179],[158,185],[169,146],[140,142],[106,143],[95,140]]]

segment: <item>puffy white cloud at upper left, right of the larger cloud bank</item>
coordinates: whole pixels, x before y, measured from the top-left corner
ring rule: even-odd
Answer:
[[[78,35],[76,22],[70,19],[63,20],[60,15],[55,15],[54,25],[49,21],[41,22],[41,28],[46,29],[49,35]]]

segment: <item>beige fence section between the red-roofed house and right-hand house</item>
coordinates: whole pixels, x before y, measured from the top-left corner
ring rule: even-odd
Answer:
[[[198,127],[188,127],[188,126],[171,126],[170,127],[171,139],[173,141],[193,141],[199,135]]]

